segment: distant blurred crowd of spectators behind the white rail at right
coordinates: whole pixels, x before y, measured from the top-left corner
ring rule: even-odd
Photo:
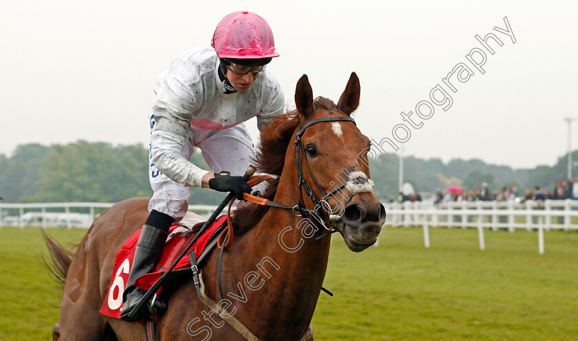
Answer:
[[[564,200],[575,199],[578,200],[578,176],[572,180],[558,180],[553,190],[545,188],[540,190],[539,186],[535,186],[534,190],[526,188],[523,195],[518,192],[515,182],[510,187],[502,187],[502,190],[491,190],[485,182],[481,185],[476,185],[473,190],[459,187],[449,187],[447,190],[436,190],[434,198],[435,203],[444,203],[449,201],[521,201],[535,200],[544,201],[550,200]],[[411,195],[399,194],[396,198],[392,196],[390,202],[399,201],[422,201],[422,197],[418,191]]]

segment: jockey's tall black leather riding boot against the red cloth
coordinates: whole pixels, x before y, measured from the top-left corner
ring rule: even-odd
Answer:
[[[134,282],[140,276],[156,270],[155,267],[160,259],[166,240],[167,232],[159,228],[153,228],[153,226],[147,223],[142,226],[142,232],[140,232],[138,243],[136,243],[131,273],[127,281],[129,286],[122,294],[121,320],[135,322],[140,318],[140,311],[135,311],[135,309],[136,305],[140,303],[142,296],[147,293],[147,290],[136,287]],[[154,303],[151,307],[153,299]],[[152,314],[162,314],[164,311],[167,311],[167,305],[162,303],[158,297],[154,298],[154,296],[147,302],[147,307]]]

